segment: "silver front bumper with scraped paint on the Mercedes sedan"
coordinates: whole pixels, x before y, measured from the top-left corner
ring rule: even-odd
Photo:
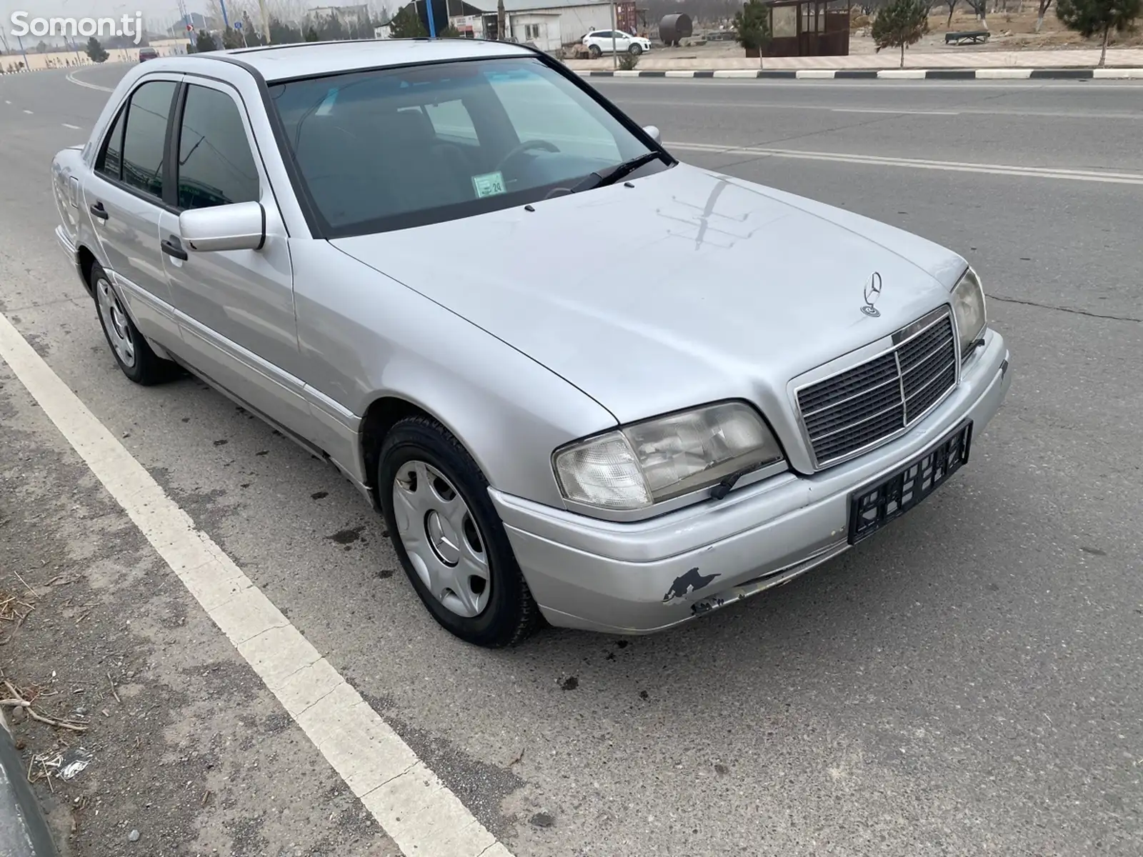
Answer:
[[[960,385],[903,436],[810,476],[783,473],[634,523],[600,521],[490,490],[533,596],[553,625],[650,633],[793,579],[845,551],[849,496],[964,419],[980,436],[1012,384],[989,330]]]

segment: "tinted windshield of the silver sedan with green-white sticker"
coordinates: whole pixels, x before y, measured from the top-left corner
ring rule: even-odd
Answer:
[[[531,57],[311,78],[270,91],[301,192],[329,238],[535,202],[652,151]],[[664,167],[656,160],[633,175]]]

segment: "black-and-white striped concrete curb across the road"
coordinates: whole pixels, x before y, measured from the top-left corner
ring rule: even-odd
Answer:
[[[720,78],[734,80],[1143,80],[1143,69],[719,69],[577,71],[583,78]]]

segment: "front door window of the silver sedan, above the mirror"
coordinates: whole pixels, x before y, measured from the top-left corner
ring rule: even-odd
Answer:
[[[178,207],[254,202],[259,195],[258,168],[234,99],[217,89],[187,87],[178,133]]]

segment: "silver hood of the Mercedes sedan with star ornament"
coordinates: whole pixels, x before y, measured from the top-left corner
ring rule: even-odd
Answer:
[[[892,226],[681,163],[531,208],[331,243],[621,423],[724,398],[773,402],[794,376],[946,303],[967,267]]]

